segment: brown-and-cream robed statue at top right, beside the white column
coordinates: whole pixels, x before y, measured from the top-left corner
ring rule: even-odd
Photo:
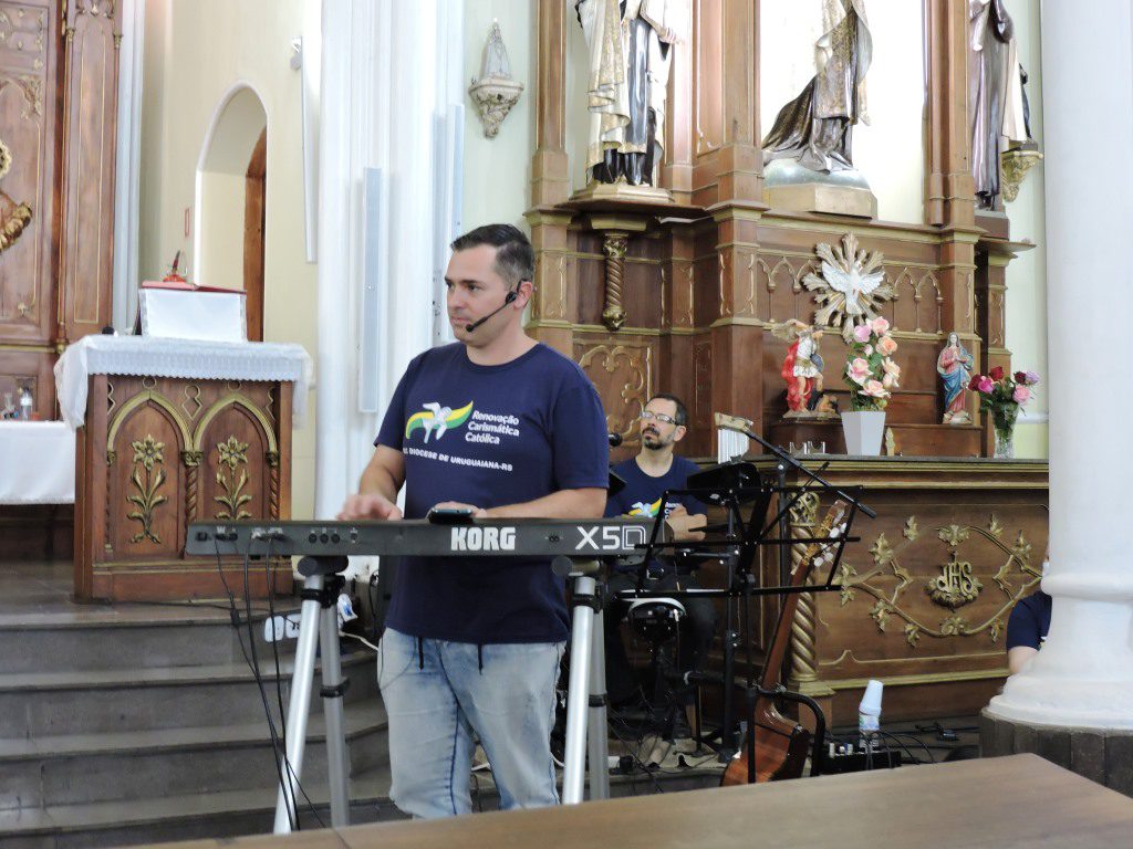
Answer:
[[[999,157],[1034,146],[1028,126],[1015,26],[1004,0],[969,0],[968,121],[972,177],[980,208],[994,209],[1000,189]]]

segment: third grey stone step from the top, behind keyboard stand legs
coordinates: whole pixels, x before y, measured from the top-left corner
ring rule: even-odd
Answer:
[[[344,726],[350,774],[389,763],[377,700],[349,705]],[[301,777],[315,783],[327,780],[325,740],[324,718],[313,715]],[[270,789],[278,781],[266,721],[0,740],[0,809],[7,811]]]

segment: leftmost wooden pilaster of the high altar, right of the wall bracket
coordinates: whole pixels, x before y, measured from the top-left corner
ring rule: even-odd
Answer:
[[[535,88],[535,156],[531,206],[553,206],[570,197],[566,162],[566,3],[538,0]]]

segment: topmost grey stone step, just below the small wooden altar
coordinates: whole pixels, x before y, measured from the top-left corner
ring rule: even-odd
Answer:
[[[298,619],[289,600],[284,612]],[[271,655],[264,641],[265,611],[253,611],[250,632],[256,651]],[[249,645],[246,614],[239,629],[229,611],[145,607],[94,608],[71,614],[0,616],[0,675],[6,672],[67,672],[92,669],[155,669],[239,662],[240,643]],[[283,655],[295,653],[295,640],[275,643]],[[246,649],[247,650],[247,649]]]

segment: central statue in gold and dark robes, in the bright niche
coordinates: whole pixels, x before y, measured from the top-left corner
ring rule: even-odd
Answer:
[[[866,112],[866,72],[874,40],[864,0],[823,0],[823,35],[815,43],[816,74],[780,110],[763,142],[764,164],[794,160],[829,174],[853,169],[851,135]]]

